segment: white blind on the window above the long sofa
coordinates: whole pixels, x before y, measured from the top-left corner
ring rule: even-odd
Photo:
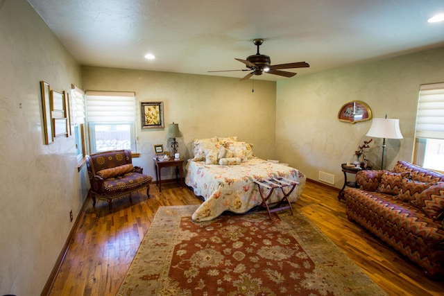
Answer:
[[[420,86],[416,137],[444,139],[444,83]]]

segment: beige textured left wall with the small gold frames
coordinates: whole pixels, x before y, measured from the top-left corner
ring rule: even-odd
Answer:
[[[0,1],[0,295],[40,295],[80,193],[74,137],[44,145],[40,80],[59,92],[80,66],[24,0]]]

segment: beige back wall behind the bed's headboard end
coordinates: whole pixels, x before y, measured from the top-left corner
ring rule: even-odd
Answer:
[[[141,156],[135,164],[155,178],[153,145],[170,150],[168,124],[179,124],[183,137],[179,153],[191,158],[196,138],[238,136],[253,143],[257,156],[274,157],[275,82],[221,78],[192,74],[137,71],[98,67],[82,68],[85,90],[131,91],[137,100],[137,146]],[[142,130],[140,102],[164,103],[164,129]],[[173,170],[162,170],[162,179],[171,179]]]

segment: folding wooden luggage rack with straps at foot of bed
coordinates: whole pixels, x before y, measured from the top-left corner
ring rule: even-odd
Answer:
[[[266,210],[268,211],[268,216],[270,216],[271,220],[271,213],[275,211],[282,211],[284,209],[290,209],[291,215],[293,215],[293,209],[291,209],[291,204],[289,201],[289,195],[293,192],[293,190],[296,188],[296,186],[299,185],[299,182],[289,180],[284,177],[273,177],[268,180],[255,180],[255,183],[257,184],[257,189],[259,190],[259,193],[262,198],[262,203],[259,205],[259,209],[261,207],[266,207]],[[280,188],[282,191],[282,194],[284,194],[284,197],[281,198],[278,202],[273,202],[272,209],[270,209],[267,201],[271,198],[271,195],[273,194],[273,191],[276,188]],[[287,188],[287,193],[285,193],[284,188]],[[263,190],[262,190],[263,189]],[[264,197],[265,191],[268,189],[268,195]],[[287,202],[284,206],[280,207],[280,204],[282,202]]]

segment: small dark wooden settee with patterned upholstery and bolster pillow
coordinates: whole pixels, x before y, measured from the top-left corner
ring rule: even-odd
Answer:
[[[92,205],[96,198],[108,202],[112,211],[112,200],[123,195],[140,191],[146,187],[149,197],[153,177],[144,175],[143,168],[133,166],[130,150],[114,150],[86,156],[89,182],[91,184]]]

